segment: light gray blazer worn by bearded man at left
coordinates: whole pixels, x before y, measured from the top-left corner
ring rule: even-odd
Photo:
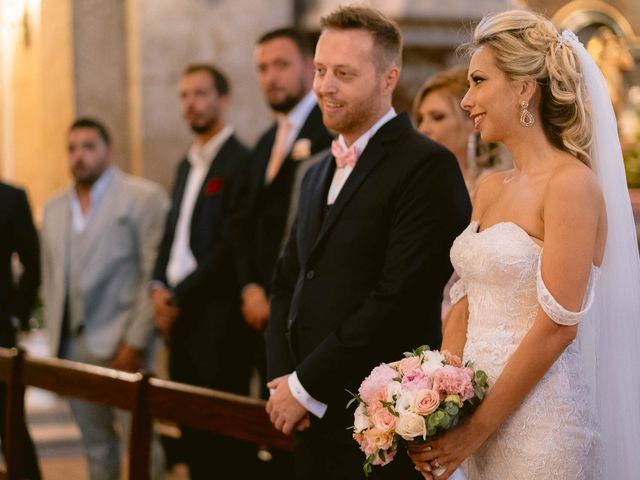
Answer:
[[[149,281],[162,237],[168,200],[159,185],[119,170],[85,230],[79,255],[81,295],[69,310],[82,312],[90,352],[111,358],[121,343],[144,349],[153,333]],[[71,189],[45,206],[42,221],[44,320],[58,354],[65,303],[65,251],[71,231]],[[80,249],[79,249],[80,250]]]

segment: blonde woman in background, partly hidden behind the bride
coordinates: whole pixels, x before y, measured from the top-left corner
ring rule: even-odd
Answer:
[[[413,102],[416,128],[453,152],[473,200],[476,182],[495,170],[510,168],[508,153],[486,143],[474,131],[460,101],[469,88],[467,66],[459,65],[427,78]]]

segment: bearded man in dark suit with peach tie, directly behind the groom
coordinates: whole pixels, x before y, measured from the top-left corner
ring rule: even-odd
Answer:
[[[297,208],[296,180],[314,163],[314,155],[329,147],[333,137],[322,123],[311,90],[313,52],[302,32],[282,28],[262,35],[256,46],[256,63],[260,88],[276,121],[252,152],[254,201],[242,308],[247,323],[262,332],[269,318],[273,271],[289,235],[287,220]],[[259,368],[264,373],[261,365]]]

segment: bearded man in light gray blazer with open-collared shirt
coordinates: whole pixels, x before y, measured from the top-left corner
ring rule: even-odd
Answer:
[[[168,200],[147,180],[113,164],[110,137],[96,120],[82,118],[68,133],[73,185],[51,199],[42,222],[44,318],[52,354],[136,371],[149,358],[154,335],[149,281]],[[72,400],[91,480],[120,478],[124,412]],[[162,454],[152,470],[162,478]]]

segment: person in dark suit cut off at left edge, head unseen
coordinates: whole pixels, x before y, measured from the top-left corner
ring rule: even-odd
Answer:
[[[27,328],[31,310],[36,303],[40,285],[40,247],[33,225],[31,209],[24,190],[0,182],[0,347],[16,345],[16,330]],[[12,269],[13,255],[22,265],[22,275],[16,282]],[[4,447],[5,433],[4,384],[0,385],[0,435]],[[22,475],[30,480],[40,479],[35,448],[26,426],[22,433]]]

